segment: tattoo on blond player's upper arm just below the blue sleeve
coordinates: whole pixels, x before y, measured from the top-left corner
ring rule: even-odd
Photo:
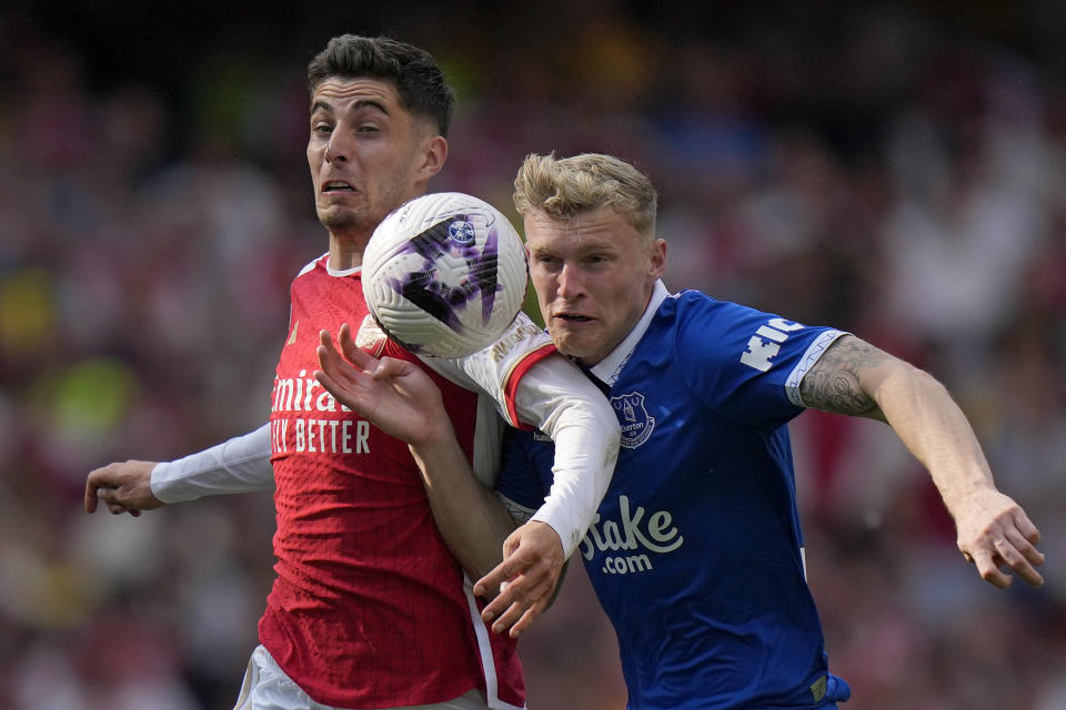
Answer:
[[[808,407],[884,419],[877,403],[862,385],[862,372],[887,355],[853,335],[838,338],[800,383],[800,396]]]

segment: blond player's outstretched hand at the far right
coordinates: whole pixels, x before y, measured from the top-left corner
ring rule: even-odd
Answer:
[[[958,531],[958,549],[977,566],[986,581],[1006,589],[1012,581],[1002,567],[1009,567],[1034,587],[1044,584],[1036,566],[1044,555],[1036,549],[1040,532],[1018,504],[995,488],[965,498],[953,510]]]

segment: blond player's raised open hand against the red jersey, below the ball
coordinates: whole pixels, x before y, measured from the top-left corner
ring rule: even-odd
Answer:
[[[452,435],[441,390],[421,367],[394,357],[378,359],[363,352],[352,341],[346,323],[338,334],[343,356],[329,331],[322,331],[319,338],[322,369],[314,376],[338,402],[411,445]]]

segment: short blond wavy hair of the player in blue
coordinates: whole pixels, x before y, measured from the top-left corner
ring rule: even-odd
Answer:
[[[655,234],[657,197],[652,181],[613,155],[526,155],[514,179],[514,206],[523,217],[540,210],[552,220],[610,206],[641,234],[648,239]]]

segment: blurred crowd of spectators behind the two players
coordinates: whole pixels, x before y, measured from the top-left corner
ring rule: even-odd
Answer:
[[[1066,6],[81,6],[0,9],[0,707],[232,707],[270,495],[132,519],[86,515],[83,481],[265,420],[288,284],[326,247],[304,69],[351,31],[431,50],[455,85],[433,189],[513,214],[526,153],[617,154],[660,187],[672,290],[947,384],[1047,584],[982,581],[886,427],[808,412],[831,668],[847,708],[1066,708]],[[521,651],[531,709],[623,707],[580,566]]]

